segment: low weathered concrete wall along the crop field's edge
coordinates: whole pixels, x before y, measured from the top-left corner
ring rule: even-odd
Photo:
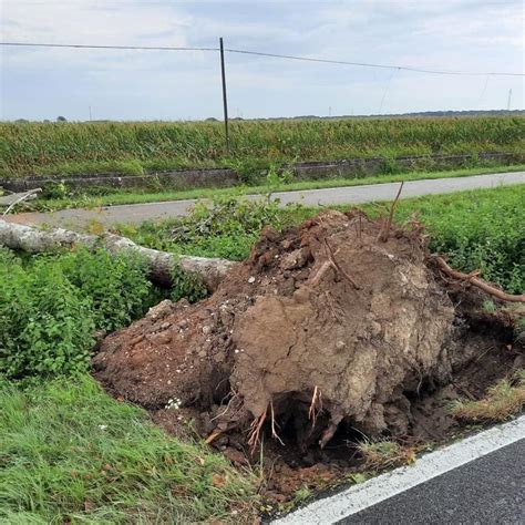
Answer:
[[[480,153],[481,163],[513,164],[525,162],[525,154]],[[333,162],[297,163],[290,166],[297,179],[369,177],[381,173],[432,168],[451,169],[467,165],[472,155],[429,155],[397,158],[351,158]],[[233,169],[174,169],[153,172],[146,175],[119,175],[101,173],[93,175],[45,176],[27,178],[0,178],[0,187],[10,192],[25,192],[47,184],[63,183],[71,188],[105,186],[115,188],[158,187],[188,189],[199,187],[228,187],[239,184],[240,177]]]

